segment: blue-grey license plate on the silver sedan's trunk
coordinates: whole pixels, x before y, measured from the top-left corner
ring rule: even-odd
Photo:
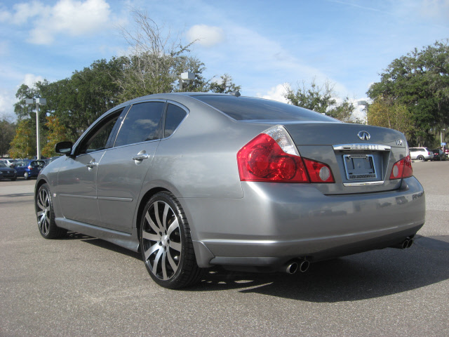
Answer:
[[[373,154],[344,154],[343,161],[348,180],[377,179]]]

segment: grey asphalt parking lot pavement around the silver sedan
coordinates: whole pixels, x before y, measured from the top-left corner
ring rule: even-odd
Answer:
[[[449,336],[449,161],[413,169],[427,222],[410,249],[295,275],[217,269],[182,291],[154,284],[138,253],[43,239],[36,180],[0,181],[0,336]]]

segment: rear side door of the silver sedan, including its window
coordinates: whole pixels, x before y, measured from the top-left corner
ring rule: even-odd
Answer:
[[[98,166],[100,225],[130,233],[142,182],[161,139],[165,102],[154,100],[130,107]]]

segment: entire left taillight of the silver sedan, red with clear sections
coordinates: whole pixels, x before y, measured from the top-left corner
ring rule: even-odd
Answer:
[[[334,183],[329,166],[310,159],[303,161],[281,125],[260,133],[242,147],[237,164],[242,181]]]

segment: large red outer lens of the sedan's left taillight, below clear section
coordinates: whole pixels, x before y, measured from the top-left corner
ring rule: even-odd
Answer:
[[[301,157],[283,152],[265,133],[246,144],[237,153],[240,180],[309,183]]]

